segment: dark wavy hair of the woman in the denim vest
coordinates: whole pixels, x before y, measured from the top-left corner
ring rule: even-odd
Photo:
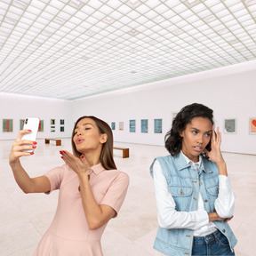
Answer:
[[[212,122],[212,125],[214,124],[213,110],[204,106],[203,104],[193,103],[181,108],[180,112],[172,120],[171,130],[167,132],[164,137],[165,148],[172,156],[177,156],[180,153],[182,147],[182,138],[180,137],[180,132],[183,132],[186,129],[187,124],[190,124],[194,117],[208,118]],[[205,148],[209,151],[211,150],[211,140]],[[209,159],[207,154],[204,152],[201,154],[201,156]]]

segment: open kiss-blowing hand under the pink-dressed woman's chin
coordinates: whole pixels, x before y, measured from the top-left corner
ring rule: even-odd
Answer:
[[[72,155],[68,151],[60,150],[61,158],[77,175],[87,174],[89,175],[90,166],[82,155],[80,158]]]

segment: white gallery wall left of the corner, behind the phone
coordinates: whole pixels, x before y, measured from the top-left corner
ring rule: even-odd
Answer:
[[[38,139],[70,137],[73,105],[73,101],[69,100],[0,93],[0,140],[16,139],[20,131],[20,119],[34,116],[44,120],[44,132],[37,133]],[[3,132],[3,119],[13,120],[12,132]],[[51,119],[55,119],[55,132],[51,132]],[[64,132],[60,132],[60,119],[64,119]]]

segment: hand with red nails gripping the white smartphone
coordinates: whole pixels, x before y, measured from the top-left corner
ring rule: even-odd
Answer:
[[[9,164],[15,164],[19,160],[20,156],[31,156],[34,153],[23,152],[22,150],[36,148],[36,141],[33,140],[21,140],[23,134],[29,133],[31,130],[21,130],[17,139],[12,144],[12,149],[9,155]]]

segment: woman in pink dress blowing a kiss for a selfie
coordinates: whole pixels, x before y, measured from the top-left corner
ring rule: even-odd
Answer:
[[[128,175],[116,170],[110,127],[94,116],[80,117],[72,132],[73,155],[60,151],[65,164],[36,178],[20,164],[20,156],[33,155],[22,150],[36,148],[36,141],[21,140],[28,132],[20,131],[9,156],[16,182],[25,193],[60,189],[54,219],[34,256],[101,256],[101,235],[129,184]]]

